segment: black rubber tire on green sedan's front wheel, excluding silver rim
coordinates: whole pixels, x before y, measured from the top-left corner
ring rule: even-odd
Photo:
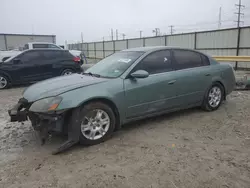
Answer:
[[[81,129],[79,130],[80,131],[80,143],[82,145],[87,145],[87,146],[91,146],[91,145],[96,145],[96,144],[99,144],[99,143],[102,143],[104,141],[106,141],[107,139],[109,139],[112,135],[112,133],[114,132],[114,129],[115,129],[115,123],[116,123],[116,118],[115,118],[115,114],[113,112],[113,110],[106,104],[102,103],[102,102],[91,102],[87,105],[85,105],[81,112],[80,112],[80,122],[82,123],[85,119],[85,116],[93,111],[93,110],[97,110],[97,109],[100,109],[104,112],[107,113],[107,115],[109,116],[109,119],[110,119],[110,124],[109,124],[109,128],[107,130],[107,132],[99,139],[96,139],[96,140],[91,140],[91,139],[88,139],[87,137],[85,137],[81,131]]]

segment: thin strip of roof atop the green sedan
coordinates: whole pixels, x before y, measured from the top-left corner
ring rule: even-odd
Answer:
[[[169,49],[180,49],[180,50],[190,50],[190,51],[196,51],[193,49],[189,49],[189,48],[181,48],[181,47],[177,47],[177,46],[147,46],[147,47],[137,47],[137,48],[129,48],[129,49],[125,49],[122,51],[125,52],[130,52],[130,51],[134,51],[134,52],[153,52],[153,51],[158,51],[158,50],[169,50]],[[197,52],[197,51],[196,51]],[[201,53],[201,52],[199,52]]]

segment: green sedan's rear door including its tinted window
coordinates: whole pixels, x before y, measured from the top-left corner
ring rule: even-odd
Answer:
[[[200,103],[212,82],[212,73],[206,56],[191,50],[174,49],[178,105],[187,107]]]

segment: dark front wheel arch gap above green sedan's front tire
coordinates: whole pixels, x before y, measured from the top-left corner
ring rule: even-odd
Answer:
[[[83,103],[78,105],[78,107],[84,107],[85,105],[92,103],[92,102],[102,102],[102,103],[108,105],[113,110],[113,112],[115,114],[115,118],[116,118],[115,130],[118,130],[121,128],[120,112],[119,112],[116,104],[108,98],[105,98],[105,97],[92,98],[92,99],[84,101]]]

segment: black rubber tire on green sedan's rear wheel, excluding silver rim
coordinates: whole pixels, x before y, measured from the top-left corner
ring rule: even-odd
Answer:
[[[210,91],[213,89],[213,88],[219,88],[220,89],[220,92],[221,92],[221,97],[220,97],[220,100],[219,100],[219,103],[216,105],[216,106],[212,106],[210,103],[209,103],[209,100],[210,100],[210,97],[209,97],[209,93]],[[224,100],[225,98],[225,91],[224,91],[224,87],[220,84],[220,83],[214,83],[206,92],[205,96],[204,96],[204,100],[203,100],[203,103],[202,103],[202,109],[205,110],[205,111],[214,111],[214,110],[217,110],[222,101]]]

